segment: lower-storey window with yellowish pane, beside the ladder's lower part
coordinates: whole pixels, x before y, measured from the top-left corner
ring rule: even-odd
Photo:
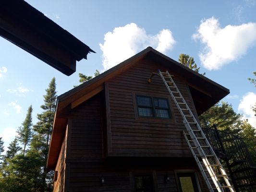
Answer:
[[[199,192],[195,173],[177,173],[181,192]]]

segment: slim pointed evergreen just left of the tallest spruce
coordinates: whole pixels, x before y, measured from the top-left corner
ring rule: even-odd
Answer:
[[[27,144],[29,144],[32,137],[32,105],[27,109],[27,114],[22,126],[18,129],[18,140],[24,145],[23,155]]]

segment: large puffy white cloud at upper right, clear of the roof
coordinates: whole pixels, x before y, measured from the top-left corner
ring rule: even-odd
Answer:
[[[203,66],[208,70],[218,70],[256,45],[256,23],[221,28],[219,21],[211,17],[201,21],[197,33],[192,37],[204,45],[199,53]]]

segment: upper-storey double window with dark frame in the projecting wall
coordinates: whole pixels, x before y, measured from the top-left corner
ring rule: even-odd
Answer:
[[[136,100],[139,116],[171,119],[170,108],[166,98],[136,96]]]

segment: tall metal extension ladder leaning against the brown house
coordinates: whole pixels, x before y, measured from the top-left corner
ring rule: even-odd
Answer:
[[[172,80],[171,75],[168,71],[161,72],[160,70],[158,70],[158,75],[162,78],[171,98],[183,117],[183,123],[187,129],[187,132],[183,131],[184,137],[206,181],[209,191],[234,192],[227,173],[221,166],[218,157],[207,141],[202,128],[195,119],[195,116],[188,107],[182,94]]]

